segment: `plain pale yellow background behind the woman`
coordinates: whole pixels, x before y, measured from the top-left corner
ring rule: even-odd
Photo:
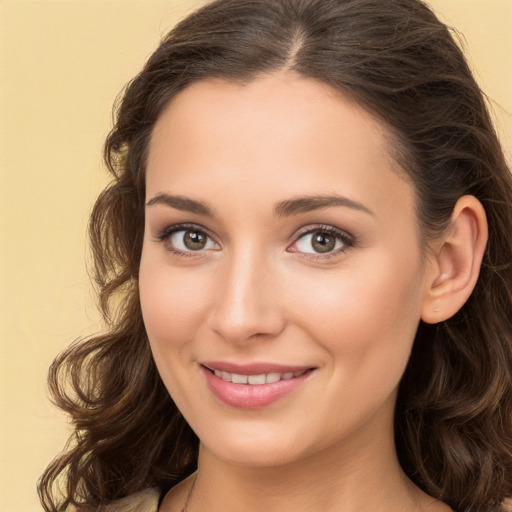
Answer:
[[[0,512],[41,510],[35,481],[68,433],[46,371],[100,328],[84,235],[111,104],[198,3],[0,0]],[[510,157],[512,0],[430,3],[465,35]]]

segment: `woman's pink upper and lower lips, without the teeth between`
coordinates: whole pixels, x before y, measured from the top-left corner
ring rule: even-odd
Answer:
[[[259,409],[269,406],[298,390],[315,373],[309,366],[287,366],[268,363],[249,365],[228,362],[204,362],[200,365],[208,388],[222,403],[239,409]],[[262,373],[303,372],[298,377],[266,384],[235,384],[218,377],[212,370],[238,373],[242,375],[260,375]]]

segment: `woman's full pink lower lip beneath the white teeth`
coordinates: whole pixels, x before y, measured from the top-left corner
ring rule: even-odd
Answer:
[[[280,380],[271,384],[233,384],[217,377],[214,373],[201,367],[210,391],[221,402],[240,409],[257,409],[277,402],[293,393],[308,379],[312,371],[307,371],[300,377]]]

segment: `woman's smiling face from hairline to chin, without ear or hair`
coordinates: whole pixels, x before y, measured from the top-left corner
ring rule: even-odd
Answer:
[[[206,449],[276,465],[392,443],[428,259],[375,119],[291,73],[196,83],[155,126],[146,200],[144,322]]]

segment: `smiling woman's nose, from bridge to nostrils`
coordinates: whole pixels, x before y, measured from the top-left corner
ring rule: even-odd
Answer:
[[[209,327],[232,344],[276,337],[285,327],[279,283],[271,265],[251,251],[222,263]]]

